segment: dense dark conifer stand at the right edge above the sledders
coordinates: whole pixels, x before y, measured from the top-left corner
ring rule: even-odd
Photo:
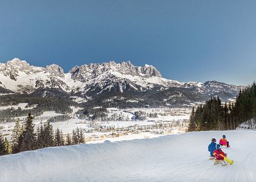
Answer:
[[[202,130],[236,129],[241,123],[249,121],[249,126],[256,123],[256,84],[240,90],[234,103],[221,103],[213,97],[192,108],[189,119],[189,132]]]

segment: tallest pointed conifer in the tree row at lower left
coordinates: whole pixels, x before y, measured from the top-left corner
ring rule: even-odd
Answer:
[[[21,152],[36,149],[36,135],[34,133],[33,116],[29,113],[26,118],[25,130],[22,133]]]

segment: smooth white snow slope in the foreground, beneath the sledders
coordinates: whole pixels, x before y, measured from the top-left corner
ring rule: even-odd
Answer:
[[[232,166],[209,160],[226,135]],[[190,132],[142,140],[49,147],[0,157],[0,181],[256,181],[256,132]]]

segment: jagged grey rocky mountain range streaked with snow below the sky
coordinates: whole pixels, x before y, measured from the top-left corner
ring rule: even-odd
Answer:
[[[36,67],[18,58],[0,63],[1,93],[36,93],[47,96],[50,90],[58,90],[67,95],[76,94],[87,99],[113,93],[168,93],[168,96],[162,98],[168,102],[188,92],[200,95],[200,98],[202,95],[234,98],[239,89],[241,86],[217,81],[181,83],[165,79],[154,66],[134,66],[130,61],[118,64],[114,61],[85,64],[75,66],[68,73],[64,73],[56,64]]]

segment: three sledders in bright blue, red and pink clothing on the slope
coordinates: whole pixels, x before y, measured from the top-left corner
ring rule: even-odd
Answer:
[[[210,152],[210,160],[215,159],[214,164],[219,164],[221,163],[223,166],[227,165],[229,163],[232,165],[234,163],[233,160],[230,160],[227,158],[227,153],[224,153],[221,150],[221,147],[227,147],[229,148],[229,141],[227,141],[226,135],[223,135],[221,138],[220,142],[217,144],[216,139],[212,138],[212,143],[209,144],[208,150]]]

